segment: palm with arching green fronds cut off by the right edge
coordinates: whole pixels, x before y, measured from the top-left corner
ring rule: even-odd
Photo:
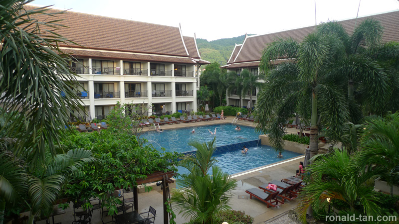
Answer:
[[[361,151],[358,163],[361,168],[373,165],[379,167],[381,172],[377,175],[387,180],[391,186],[398,179],[399,166],[399,112],[387,115],[385,118],[372,116],[366,122],[363,136],[360,140]]]

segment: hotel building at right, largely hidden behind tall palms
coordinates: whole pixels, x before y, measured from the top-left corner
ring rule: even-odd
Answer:
[[[383,42],[397,41],[399,42],[399,11],[392,11],[388,13],[376,14],[371,16],[359,17],[356,21],[354,19],[348,19],[339,21],[346,31],[349,34],[352,34],[355,23],[359,25],[362,21],[374,18],[380,21],[380,24],[384,27],[384,35]],[[249,72],[253,74],[257,74],[259,72],[259,62],[262,57],[262,52],[268,43],[272,42],[276,38],[287,38],[291,37],[292,39],[300,42],[305,36],[309,33],[315,31],[315,26],[309,26],[304,28],[286,30],[276,33],[269,33],[264,35],[253,35],[253,36],[245,36],[244,42],[242,44],[236,44],[230,58],[227,61],[227,65],[221,66],[220,68],[226,68],[227,72],[233,71],[237,74],[243,69],[248,69]],[[275,61],[277,64],[279,61]],[[259,82],[263,82],[259,80]],[[256,94],[259,92],[252,91],[252,105],[256,102]],[[226,103],[230,106],[239,105],[247,106],[249,101],[249,93],[246,93],[245,96],[242,96],[241,104],[239,102],[239,96],[235,91],[230,93],[226,93]]]

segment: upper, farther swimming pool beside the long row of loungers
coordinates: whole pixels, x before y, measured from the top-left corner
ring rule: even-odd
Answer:
[[[234,130],[235,126],[235,124],[216,124],[164,130],[162,133],[157,131],[147,131],[142,134],[140,138],[146,138],[149,143],[158,150],[161,150],[161,147],[164,147],[167,152],[187,152],[196,150],[193,146],[189,146],[188,143],[194,140],[200,142],[213,140],[215,135],[210,134],[208,129],[214,132],[215,128],[216,146],[259,139],[260,133],[256,132],[255,128],[240,126],[241,130],[236,131]],[[195,129],[194,134],[191,133],[193,129]]]

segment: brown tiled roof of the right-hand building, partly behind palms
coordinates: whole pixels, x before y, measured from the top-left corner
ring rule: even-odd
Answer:
[[[358,18],[357,24],[359,25],[365,19],[371,17],[379,20],[381,25],[384,27],[383,41],[399,41],[399,11],[360,17]],[[348,31],[349,34],[352,34],[355,27],[355,20],[356,19],[349,19],[340,21],[340,23]],[[262,56],[262,51],[266,47],[266,44],[272,42],[276,37],[292,37],[296,41],[301,41],[306,35],[313,32],[314,30],[314,26],[309,26],[277,33],[248,36],[244,40],[244,43],[241,46],[241,51],[239,52],[237,57],[234,59],[230,59],[230,61],[233,63],[259,61]]]

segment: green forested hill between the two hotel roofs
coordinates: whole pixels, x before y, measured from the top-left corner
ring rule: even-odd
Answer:
[[[203,60],[225,65],[227,64],[227,60],[230,58],[231,52],[234,49],[234,44],[242,44],[244,39],[245,35],[212,41],[197,39],[197,46]]]

